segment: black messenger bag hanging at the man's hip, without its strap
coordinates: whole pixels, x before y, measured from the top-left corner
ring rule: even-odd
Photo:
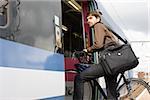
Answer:
[[[139,64],[130,44],[109,46],[100,53],[99,59],[107,75],[130,70]]]

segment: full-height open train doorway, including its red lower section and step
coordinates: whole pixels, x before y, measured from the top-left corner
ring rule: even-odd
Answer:
[[[72,59],[72,54],[84,48],[82,14],[69,6],[67,0],[62,1],[62,25],[65,69],[75,69],[78,60]],[[65,73],[66,100],[72,100],[74,76],[75,73]]]

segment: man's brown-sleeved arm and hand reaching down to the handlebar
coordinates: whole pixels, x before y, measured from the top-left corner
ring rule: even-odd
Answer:
[[[101,49],[104,44],[105,29],[103,25],[101,23],[97,23],[94,26],[94,31],[95,31],[94,44],[91,47],[87,48],[88,52],[92,52],[93,50],[96,50],[96,49]]]

